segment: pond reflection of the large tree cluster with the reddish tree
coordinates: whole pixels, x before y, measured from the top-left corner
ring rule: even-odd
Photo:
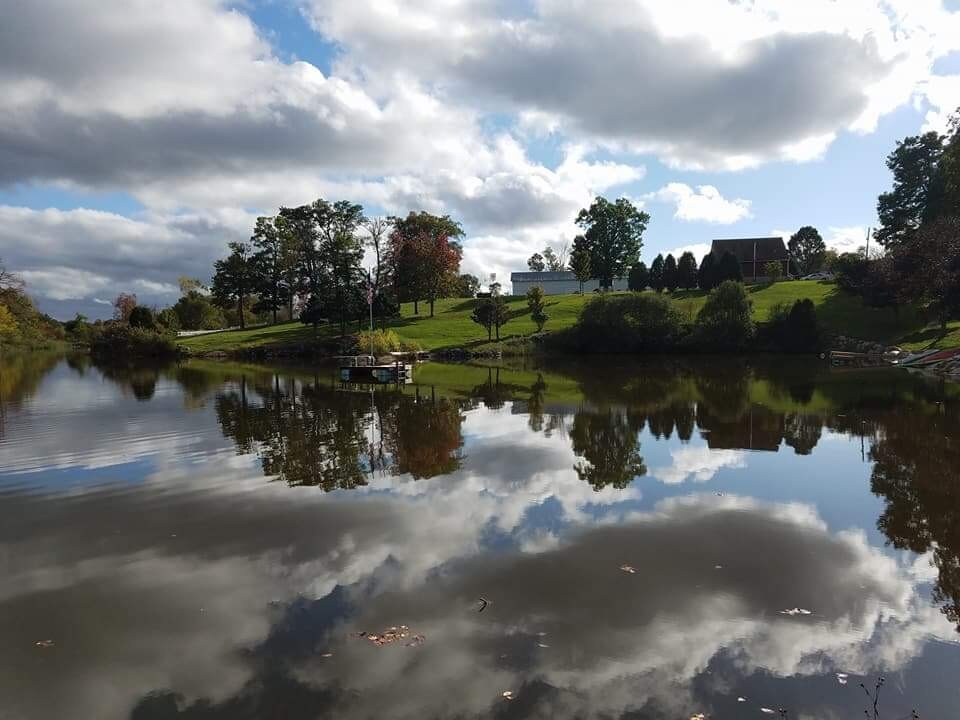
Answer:
[[[366,485],[377,472],[415,479],[460,466],[463,416],[454,401],[397,390],[343,391],[315,378],[246,375],[214,401],[224,435],[256,451],[263,471],[291,486],[325,491]]]

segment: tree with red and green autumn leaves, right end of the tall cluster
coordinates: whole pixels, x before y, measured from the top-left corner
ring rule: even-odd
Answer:
[[[411,212],[395,218],[388,241],[388,257],[397,297],[413,302],[419,313],[419,301],[434,303],[454,287],[460,272],[462,250],[456,238],[463,235],[460,223],[449,215]]]

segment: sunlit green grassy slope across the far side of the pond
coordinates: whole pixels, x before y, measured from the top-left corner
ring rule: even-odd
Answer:
[[[775,305],[781,302],[809,298],[817,307],[817,316],[831,331],[865,340],[898,343],[907,348],[927,347],[932,343],[943,347],[960,345],[960,321],[951,323],[946,337],[940,330],[928,327],[913,308],[903,307],[899,312],[891,308],[869,308],[852,295],[841,292],[836,285],[811,281],[782,282],[771,286],[750,288],[754,319],[765,321]],[[550,316],[547,331],[568,328],[576,322],[583,304],[590,295],[555,295],[546,298],[546,312]],[[701,291],[679,291],[670,296],[681,312],[691,320],[703,306],[706,294]],[[527,311],[526,298],[506,298],[511,311],[510,321],[501,328],[501,338],[516,343],[536,331]],[[483,348],[488,345],[486,331],[470,319],[474,300],[452,298],[438,301],[435,317],[429,316],[429,307],[420,303],[420,314],[415,315],[413,304],[404,304],[401,316],[388,323],[400,338],[416,343],[424,350],[464,347]],[[355,332],[356,324],[348,327]],[[284,323],[250,330],[230,330],[198,337],[181,338],[178,344],[192,354],[225,352],[242,354],[257,349],[282,349],[317,342],[330,341],[339,333],[337,326],[322,326],[318,333],[301,323]]]

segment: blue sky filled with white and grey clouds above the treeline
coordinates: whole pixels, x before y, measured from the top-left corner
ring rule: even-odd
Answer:
[[[318,197],[449,213],[504,281],[592,198],[642,258],[877,225],[960,106],[956,0],[0,0],[0,258],[106,317]],[[509,286],[508,286],[509,287]]]

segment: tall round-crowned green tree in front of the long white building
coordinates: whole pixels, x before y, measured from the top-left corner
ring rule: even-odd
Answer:
[[[611,203],[598,197],[577,215],[584,230],[593,274],[602,287],[610,287],[614,278],[624,277],[640,258],[643,232],[650,216],[637,210],[626,198]]]

